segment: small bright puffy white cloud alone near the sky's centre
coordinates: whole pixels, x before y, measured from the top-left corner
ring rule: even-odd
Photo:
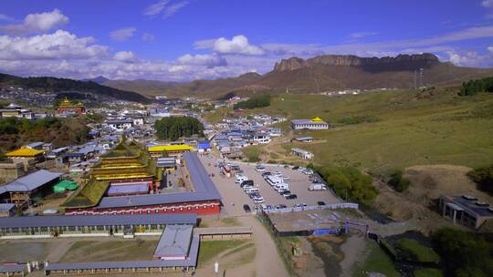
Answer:
[[[210,48],[219,54],[240,54],[240,55],[264,55],[266,51],[259,46],[250,45],[247,36],[233,36],[232,39],[219,37],[217,39],[206,39],[196,41],[195,48]]]

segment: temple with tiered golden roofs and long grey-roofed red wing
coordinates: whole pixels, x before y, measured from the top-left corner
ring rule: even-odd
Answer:
[[[121,143],[89,172],[89,182],[64,204],[66,215],[197,213],[217,214],[221,196],[195,153],[183,154],[178,174],[187,191],[161,191],[163,171],[150,153]]]

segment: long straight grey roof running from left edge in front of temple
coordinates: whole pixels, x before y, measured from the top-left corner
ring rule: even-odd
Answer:
[[[26,216],[0,218],[0,229],[57,226],[108,226],[128,224],[195,224],[196,221],[197,215],[194,213]]]

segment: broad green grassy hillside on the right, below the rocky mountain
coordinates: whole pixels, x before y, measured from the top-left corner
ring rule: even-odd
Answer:
[[[313,136],[319,143],[297,144],[315,154],[318,164],[361,164],[374,173],[413,165],[454,164],[468,167],[493,162],[493,96],[457,97],[456,89],[430,92],[395,90],[358,96],[280,95],[268,108],[253,112],[288,118],[320,117],[329,130],[290,136]],[[344,125],[342,118],[372,118]],[[377,120],[374,120],[378,118]],[[281,128],[289,130],[288,122]],[[288,155],[292,143],[267,146]]]

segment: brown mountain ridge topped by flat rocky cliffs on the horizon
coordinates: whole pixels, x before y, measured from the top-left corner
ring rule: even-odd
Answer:
[[[294,56],[280,60],[263,75],[247,73],[239,77],[194,80],[163,87],[152,95],[220,98],[232,93],[248,96],[289,89],[295,93],[317,93],[348,88],[409,88],[418,83],[421,68],[424,86],[458,85],[470,78],[493,76],[492,68],[456,67],[429,53],[383,57],[322,55],[307,59]],[[139,92],[146,94],[145,89]]]

